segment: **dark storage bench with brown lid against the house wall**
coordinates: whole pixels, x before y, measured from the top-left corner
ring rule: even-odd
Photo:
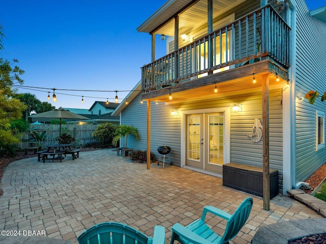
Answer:
[[[278,171],[269,169],[270,199],[278,195]],[[223,165],[223,186],[263,196],[263,168],[239,163]]]

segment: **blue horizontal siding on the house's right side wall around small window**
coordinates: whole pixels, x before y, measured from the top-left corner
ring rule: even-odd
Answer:
[[[310,16],[303,0],[296,0],[295,93],[326,90],[326,23]],[[326,148],[316,151],[316,110],[326,113],[326,104],[317,98],[314,105],[306,99],[295,106],[296,182],[306,180],[326,162]]]

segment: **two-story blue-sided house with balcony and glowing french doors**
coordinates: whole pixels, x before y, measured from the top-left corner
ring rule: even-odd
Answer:
[[[219,177],[269,162],[280,193],[296,188],[326,162],[326,104],[303,99],[326,90],[325,16],[304,0],[167,1],[138,27],[167,55],[112,113],[139,129],[128,146],[165,143],[173,165]]]

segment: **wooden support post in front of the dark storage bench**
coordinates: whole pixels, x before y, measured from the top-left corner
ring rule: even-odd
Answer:
[[[270,182],[269,182],[269,94],[268,75],[262,75],[262,116],[263,116],[263,205],[269,210]]]

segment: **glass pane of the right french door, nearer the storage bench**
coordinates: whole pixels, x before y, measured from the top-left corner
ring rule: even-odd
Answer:
[[[223,165],[223,115],[208,116],[208,163]]]

